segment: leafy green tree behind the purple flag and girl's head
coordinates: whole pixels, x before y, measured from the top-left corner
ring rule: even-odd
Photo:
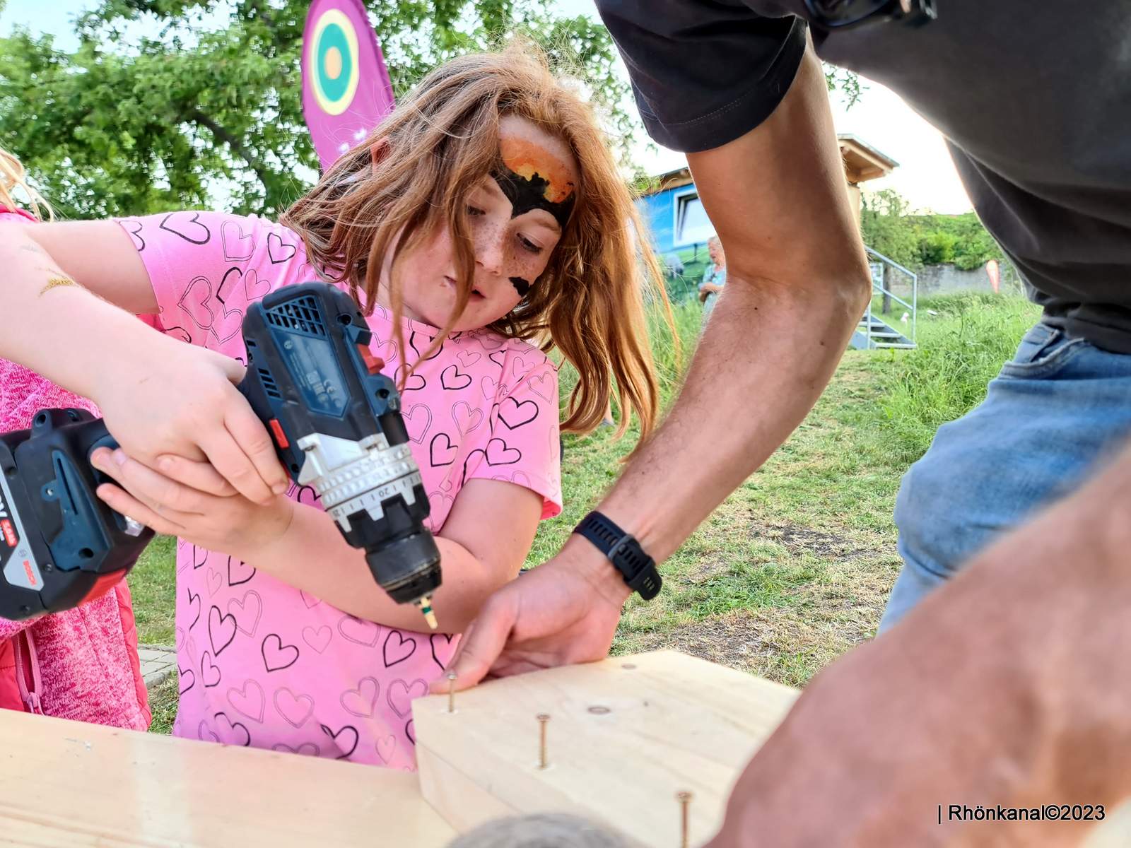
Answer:
[[[588,80],[628,149],[628,89],[599,24],[554,18],[534,0],[369,0],[394,89],[455,55],[524,33],[551,63]],[[308,0],[103,0],[78,21],[80,46],[17,31],[0,38],[0,146],[17,154],[68,217],[215,205],[278,215],[318,159],[302,118]],[[227,11],[221,26],[206,16]],[[157,21],[156,37],[131,37]]]

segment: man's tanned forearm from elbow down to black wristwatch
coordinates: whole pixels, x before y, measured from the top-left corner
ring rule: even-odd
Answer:
[[[656,560],[675,551],[812,408],[860,319],[858,289],[732,278],[671,415],[601,509]]]

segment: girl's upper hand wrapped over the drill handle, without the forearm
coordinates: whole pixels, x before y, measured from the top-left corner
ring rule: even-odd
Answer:
[[[156,336],[93,399],[130,457],[150,468],[165,455],[207,460],[244,497],[267,503],[288,481],[267,429],[235,388],[243,373],[235,360]]]

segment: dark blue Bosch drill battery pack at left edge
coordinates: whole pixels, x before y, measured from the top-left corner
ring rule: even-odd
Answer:
[[[95,495],[90,466],[115,448],[85,409],[42,409],[31,430],[0,434],[0,617],[69,609],[111,589],[153,538]]]

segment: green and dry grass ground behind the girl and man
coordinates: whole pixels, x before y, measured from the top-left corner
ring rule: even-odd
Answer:
[[[803,685],[874,634],[900,565],[891,520],[900,475],[939,424],[982,400],[1038,317],[1026,301],[981,294],[921,308],[921,347],[848,351],[789,440],[664,563],[661,596],[629,602],[614,652],[673,647]],[[674,310],[683,366],[700,310],[697,302]],[[666,404],[681,361],[663,321],[654,318],[651,331]],[[575,381],[563,367],[563,398]],[[601,500],[634,434],[615,441],[603,427],[564,442],[564,511],[542,522],[528,566],[553,556]],[[131,577],[143,641],[172,639],[174,552],[172,539],[159,539]],[[175,683],[153,693],[155,730],[167,732],[175,696]]]

